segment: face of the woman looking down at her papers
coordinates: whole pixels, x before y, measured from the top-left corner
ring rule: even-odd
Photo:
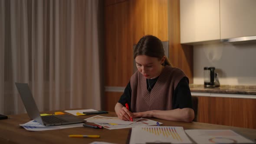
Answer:
[[[163,69],[161,63],[163,63],[164,60],[165,56],[161,60],[145,55],[136,56],[135,58],[138,71],[147,79],[154,79],[161,74]]]

